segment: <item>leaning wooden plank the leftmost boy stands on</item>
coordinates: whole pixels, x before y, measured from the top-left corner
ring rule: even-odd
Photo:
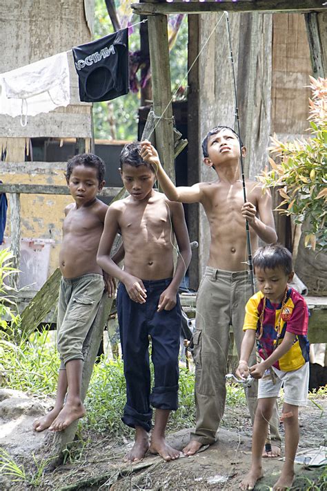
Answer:
[[[103,293],[101,303],[99,306],[99,311],[95,320],[90,328],[88,334],[88,349],[84,358],[83,373],[82,373],[82,385],[81,385],[81,400],[86,398],[86,393],[88,391],[88,385],[90,383],[90,378],[92,376],[93,366],[95,364],[95,358],[99,350],[101,337],[103,334],[103,329],[106,325],[108,317],[110,315],[111,306],[113,299],[108,298],[107,293]],[[56,465],[61,460],[61,452],[66,448],[68,443],[71,443],[77,432],[77,425],[79,421],[74,421],[68,428],[63,430],[63,432],[56,432],[52,436],[50,435],[50,455],[54,456],[54,461],[52,465]],[[57,457],[57,459],[56,459]]]

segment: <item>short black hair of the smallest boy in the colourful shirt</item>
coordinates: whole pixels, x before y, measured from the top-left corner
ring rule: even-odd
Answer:
[[[286,276],[293,271],[292,254],[286,247],[277,243],[257,249],[253,254],[252,263],[254,268],[263,270],[281,268]]]

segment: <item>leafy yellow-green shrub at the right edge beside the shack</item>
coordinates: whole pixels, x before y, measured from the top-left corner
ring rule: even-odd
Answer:
[[[327,80],[310,77],[310,82],[310,138],[293,142],[271,138],[270,151],[280,163],[269,158],[272,169],[258,179],[264,187],[280,187],[284,199],[277,210],[304,224],[306,247],[323,250],[327,246]]]

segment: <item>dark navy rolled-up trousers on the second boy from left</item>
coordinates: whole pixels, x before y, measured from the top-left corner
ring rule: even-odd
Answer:
[[[178,355],[181,334],[181,306],[157,312],[159,297],[171,279],[142,280],[146,303],[133,302],[123,284],[117,292],[117,313],[126,378],[126,405],[123,423],[151,429],[152,407],[176,410],[178,406]],[[155,385],[150,393],[149,336]]]

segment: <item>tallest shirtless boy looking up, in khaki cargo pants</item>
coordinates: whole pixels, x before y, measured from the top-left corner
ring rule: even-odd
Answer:
[[[141,145],[141,156],[156,169],[166,196],[180,203],[201,203],[210,225],[210,255],[197,295],[193,335],[197,423],[190,443],[183,450],[184,454],[193,455],[203,445],[215,442],[224,414],[230,325],[237,353],[241,347],[244,307],[252,293],[246,266],[244,219],[249,223],[252,250],[257,248],[258,238],[266,243],[275,242],[271,196],[269,192],[263,194],[257,183],[246,180],[248,201],[244,203],[239,173],[239,139],[228,127],[212,129],[202,143],[204,164],[217,174],[217,180],[212,183],[175,187],[161,166],[155,148],[147,141]],[[245,156],[246,148],[241,147],[241,151]],[[257,385],[246,389],[246,396],[253,419]],[[272,440],[280,439],[277,425],[270,425]],[[275,445],[274,452],[279,452]]]

